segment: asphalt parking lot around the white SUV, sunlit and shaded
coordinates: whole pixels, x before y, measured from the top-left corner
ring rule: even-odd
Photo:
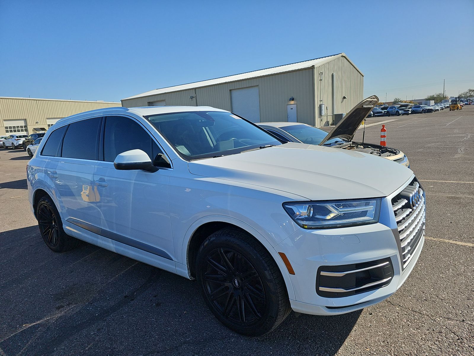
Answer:
[[[1,149],[0,356],[473,355],[474,105],[368,119],[366,142],[380,141],[380,122],[427,194],[415,269],[377,305],[291,313],[264,337],[223,327],[195,282],[90,244],[50,251],[27,202],[28,156]]]

